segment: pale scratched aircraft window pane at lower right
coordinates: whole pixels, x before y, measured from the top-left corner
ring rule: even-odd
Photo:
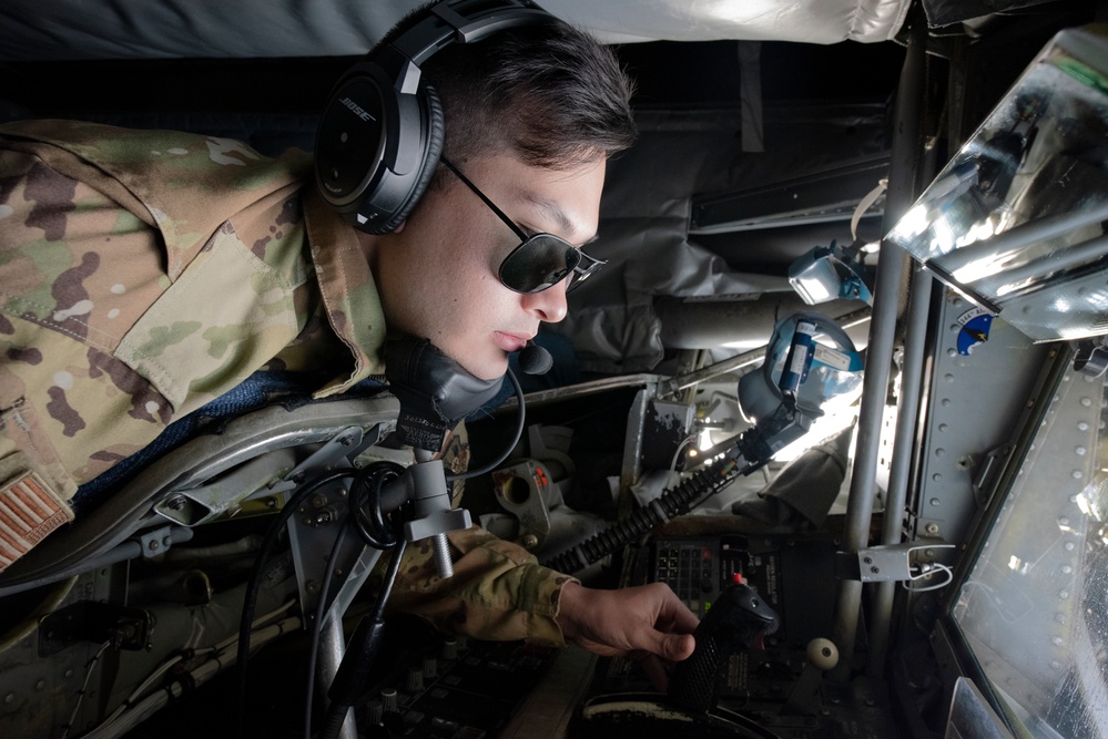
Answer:
[[[1108,737],[1106,391],[1105,378],[1063,377],[953,607],[1034,737]]]

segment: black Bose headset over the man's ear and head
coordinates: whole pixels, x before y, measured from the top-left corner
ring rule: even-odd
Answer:
[[[445,0],[335,85],[315,142],[316,183],[352,226],[394,230],[427,188],[443,152],[443,106],[419,65],[453,43],[541,23],[528,0]]]

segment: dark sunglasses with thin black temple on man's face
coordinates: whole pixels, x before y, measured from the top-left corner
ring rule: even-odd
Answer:
[[[569,292],[577,289],[590,275],[608,264],[603,259],[593,259],[566,239],[553,234],[528,236],[485,193],[478,189],[477,185],[458,172],[458,167],[446,160],[441,160],[441,162],[520,238],[519,246],[504,258],[504,261],[500,263],[500,269],[497,271],[500,281],[509,290],[531,295],[541,292],[569,278],[569,283],[566,285],[566,291]]]

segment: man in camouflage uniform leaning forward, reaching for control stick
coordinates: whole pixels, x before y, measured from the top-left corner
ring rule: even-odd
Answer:
[[[501,37],[514,62],[497,57]],[[444,156],[525,228],[589,240],[606,158],[633,135],[622,73],[561,23],[481,45],[494,50],[484,66],[457,45],[425,69]],[[469,79],[510,63],[533,74],[515,89]],[[543,100],[535,79],[551,70],[562,89]],[[567,90],[579,110],[562,110]],[[523,109],[536,112],[506,115]],[[536,148],[559,126],[553,148]],[[387,319],[491,379],[541,321],[565,317],[565,284],[520,295],[498,281],[515,236],[445,167],[383,236],[347,226],[311,173],[303,152],[270,160],[202,135],[0,127],[0,568],[71,519],[79,485],[260,369],[324,376],[313,394],[340,393],[384,371]],[[664,586],[594,591],[478,528],[450,541],[455,576],[416,552],[395,606],[482,638],[692,651],[697,619]]]

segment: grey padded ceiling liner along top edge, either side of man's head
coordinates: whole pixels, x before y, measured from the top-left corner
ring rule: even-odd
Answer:
[[[3,0],[0,60],[365,53],[419,0]],[[545,0],[607,42],[887,41],[909,0]]]

